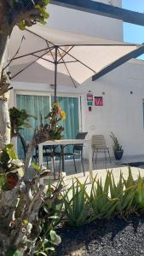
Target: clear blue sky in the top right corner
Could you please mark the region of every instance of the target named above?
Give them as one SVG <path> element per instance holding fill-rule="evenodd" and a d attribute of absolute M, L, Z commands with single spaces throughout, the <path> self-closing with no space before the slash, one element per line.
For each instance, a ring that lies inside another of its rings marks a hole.
<path fill-rule="evenodd" d="M 144 13 L 144 0 L 123 0 L 123 8 Z M 130 43 L 144 43 L 144 26 L 124 23 L 124 41 Z"/>

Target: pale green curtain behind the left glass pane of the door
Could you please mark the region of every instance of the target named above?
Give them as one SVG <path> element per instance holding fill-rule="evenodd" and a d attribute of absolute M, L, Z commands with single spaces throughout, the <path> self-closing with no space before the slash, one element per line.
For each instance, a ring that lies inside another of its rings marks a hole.
<path fill-rule="evenodd" d="M 28 114 L 33 115 L 35 118 L 29 118 L 27 121 L 31 124 L 31 128 L 24 128 L 20 131 L 21 135 L 25 138 L 26 143 L 32 140 L 35 128 L 41 123 L 46 124 L 48 121 L 44 117 L 49 113 L 49 96 L 30 96 L 30 95 L 17 95 L 16 96 L 17 108 L 26 109 Z M 23 159 L 23 149 L 21 147 L 20 139 L 18 140 L 18 154 L 20 159 Z"/>

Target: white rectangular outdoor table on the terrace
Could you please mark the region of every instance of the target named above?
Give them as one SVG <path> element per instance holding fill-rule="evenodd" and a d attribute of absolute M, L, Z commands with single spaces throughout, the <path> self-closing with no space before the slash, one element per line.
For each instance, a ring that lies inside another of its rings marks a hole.
<path fill-rule="evenodd" d="M 92 176 L 92 148 L 90 139 L 63 139 L 63 140 L 53 140 L 46 141 L 44 143 L 38 144 L 38 155 L 39 155 L 39 166 L 43 165 L 43 146 L 66 146 L 66 145 L 75 145 L 75 144 L 84 144 L 88 149 L 88 158 L 89 158 L 89 176 Z M 62 158 L 62 172 L 64 171 L 64 158 Z"/>

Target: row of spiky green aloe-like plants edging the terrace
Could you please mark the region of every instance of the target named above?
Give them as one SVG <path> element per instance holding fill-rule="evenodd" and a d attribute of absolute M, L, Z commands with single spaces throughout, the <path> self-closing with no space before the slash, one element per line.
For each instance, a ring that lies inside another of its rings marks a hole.
<path fill-rule="evenodd" d="M 120 172 L 118 183 L 115 183 L 112 172 L 107 172 L 104 185 L 101 179 L 93 178 L 90 195 L 86 182 L 78 179 L 63 195 L 66 218 L 72 226 L 80 226 L 96 218 L 119 216 L 127 218 L 129 214 L 144 212 L 144 178 L 139 174 L 135 182 L 129 167 L 129 175 L 123 177 Z"/>

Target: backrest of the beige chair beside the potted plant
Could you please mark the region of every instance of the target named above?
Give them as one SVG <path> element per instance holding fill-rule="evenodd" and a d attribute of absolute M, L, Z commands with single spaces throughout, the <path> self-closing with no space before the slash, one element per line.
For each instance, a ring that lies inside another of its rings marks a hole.
<path fill-rule="evenodd" d="M 106 149 L 106 141 L 103 135 L 93 135 L 91 139 L 91 146 L 93 149 Z"/>

